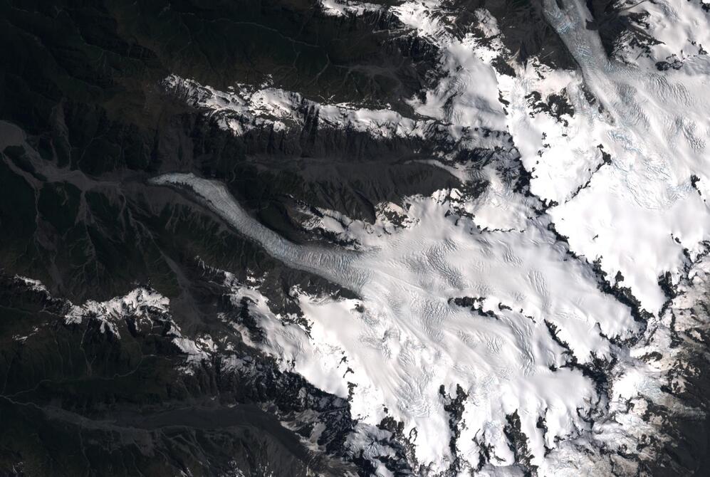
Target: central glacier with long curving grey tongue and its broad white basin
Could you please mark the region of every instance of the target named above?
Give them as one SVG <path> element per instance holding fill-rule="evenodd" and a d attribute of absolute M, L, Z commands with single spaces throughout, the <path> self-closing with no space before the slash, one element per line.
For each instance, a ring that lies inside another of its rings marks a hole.
<path fill-rule="evenodd" d="M 548 426 L 533 443 L 542 456 L 555 439 L 588 429 L 584 418 L 598 399 L 579 369 L 560 369 L 566 353 L 581 363 L 610 359 L 607 337 L 623 340 L 638 331 L 628 308 L 599 290 L 590 266 L 571 260 L 544 221 L 521 232 L 481 231 L 470 219 L 447 216 L 446 202 L 422 197 L 408 210 L 416 226 L 362 236 L 365 251 L 338 253 L 286 242 L 247 219 L 214 182 L 189 174 L 156 182 L 189 187 L 275 258 L 362 297 L 304 296 L 310 338 L 271 325 L 277 334 L 271 340 L 280 343 L 271 351 L 283 350 L 283 360 L 294 360 L 296 371 L 325 391 L 348 397 L 348 383 L 355 384 L 353 411 L 365 424 L 389 414 L 407 423 L 405 434 L 417 429 L 417 459 L 433 470 L 444 470 L 452 458 L 442 385 L 448 394 L 457 385 L 468 394 L 462 441 L 478 435 L 512 463 L 502 428 L 517 410 L 526 435 L 538 434 L 538 419 Z M 476 447 L 466 449 L 471 463 Z"/>

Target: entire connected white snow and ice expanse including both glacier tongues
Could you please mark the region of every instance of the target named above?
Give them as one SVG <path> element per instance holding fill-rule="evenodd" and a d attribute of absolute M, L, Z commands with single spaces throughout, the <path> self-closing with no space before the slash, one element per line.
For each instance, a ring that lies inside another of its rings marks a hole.
<path fill-rule="evenodd" d="M 583 1 L 559 4 L 545 0 L 545 18 L 576 71 L 531 61 L 513 65 L 515 76 L 497 73 L 491 48 L 501 43 L 451 36 L 437 2 L 406 2 L 392 12 L 440 47 L 446 73 L 424 100 L 412 99 L 418 117 L 308 103 L 320 110 L 320 127 L 376 137 L 427 137 L 436 124 L 474 147 L 486 144 L 466 136 L 469 128 L 504 131 L 531 173 L 531 196 L 514 192 L 495 168 L 443 164 L 464 182 L 484 174 L 489 189 L 378 205 L 404 217 L 400 225 L 385 214 L 364 224 L 333 211 L 304 224 L 356 243 L 345 249 L 286 241 L 218 182 L 177 173 L 153 181 L 184 188 L 287 266 L 355 292 L 357 299 L 335 300 L 297 290 L 305 330 L 281 323 L 258 287 L 229 283 L 234 300 L 249 295 L 258 304 L 268 340 L 254 346 L 350 400 L 359 424 L 348 445 L 382 475 L 377 457 L 390 449 L 377 425 L 387 416 L 404 423 L 422 474 L 536 468 L 562 476 L 635 473 L 657 449 L 649 436 L 664 439 L 644 414 L 649 403 L 696 412 L 662 385 L 685 359 L 669 345 L 672 326 L 684 326 L 672 317 L 706 319 L 688 310 L 704 299 L 709 269 L 710 60 L 698 53 L 678 70 L 654 65 L 687 53 L 685 40 L 710 45 L 709 16 L 697 2 L 637 4 L 633 11 L 649 9 L 652 34 L 663 43 L 631 62 L 631 47 L 607 57 L 597 31 L 585 28 L 592 18 Z M 337 15 L 374 8 L 323 5 Z M 490 14 L 477 16 L 495 37 Z M 219 92 L 176 76 L 166 82 L 235 134 L 298 124 L 307 102 L 274 88 Z M 563 96 L 573 112 L 534 110 L 531 93 Z M 649 357 L 654 352 L 661 358 Z M 453 401 L 461 403 L 458 414 Z M 523 436 L 523 447 L 513 434 Z M 490 463 L 479 468 L 483 454 Z"/>

